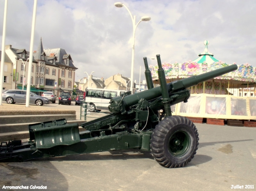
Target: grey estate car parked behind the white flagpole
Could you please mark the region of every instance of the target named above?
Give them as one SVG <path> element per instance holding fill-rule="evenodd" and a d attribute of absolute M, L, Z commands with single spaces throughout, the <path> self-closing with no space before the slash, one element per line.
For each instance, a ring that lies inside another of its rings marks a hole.
<path fill-rule="evenodd" d="M 5 90 L 2 93 L 2 101 L 6 101 L 7 103 L 26 103 L 26 90 L 18 90 L 18 89 L 9 89 Z M 42 97 L 36 95 L 34 93 L 30 93 L 29 103 L 36 104 L 36 105 L 43 105 L 49 104 L 50 101 L 46 97 Z"/>

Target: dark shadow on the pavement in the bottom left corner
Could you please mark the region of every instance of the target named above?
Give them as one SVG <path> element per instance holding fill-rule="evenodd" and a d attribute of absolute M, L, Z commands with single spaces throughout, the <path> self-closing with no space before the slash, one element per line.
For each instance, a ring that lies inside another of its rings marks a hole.
<path fill-rule="evenodd" d="M 23 185 L 28 186 L 27 190 L 68 190 L 66 178 L 49 161 L 0 163 L 0 171 L 1 188 Z M 33 189 L 33 186 L 47 186 L 47 189 Z"/>

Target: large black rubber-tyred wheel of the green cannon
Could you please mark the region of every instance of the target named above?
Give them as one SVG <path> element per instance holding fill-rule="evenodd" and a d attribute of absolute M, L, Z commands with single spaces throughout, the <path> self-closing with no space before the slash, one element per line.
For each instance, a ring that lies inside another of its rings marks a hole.
<path fill-rule="evenodd" d="M 150 151 L 163 167 L 183 167 L 194 158 L 198 140 L 193 122 L 186 117 L 170 116 L 156 125 L 150 139 Z"/>

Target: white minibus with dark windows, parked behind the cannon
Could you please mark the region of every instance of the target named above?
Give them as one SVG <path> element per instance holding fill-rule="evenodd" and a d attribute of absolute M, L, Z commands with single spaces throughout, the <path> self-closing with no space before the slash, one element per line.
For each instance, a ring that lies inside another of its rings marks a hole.
<path fill-rule="evenodd" d="M 87 88 L 85 102 L 89 105 L 88 110 L 91 112 L 108 110 L 110 99 L 123 96 L 125 92 L 126 90 Z"/>

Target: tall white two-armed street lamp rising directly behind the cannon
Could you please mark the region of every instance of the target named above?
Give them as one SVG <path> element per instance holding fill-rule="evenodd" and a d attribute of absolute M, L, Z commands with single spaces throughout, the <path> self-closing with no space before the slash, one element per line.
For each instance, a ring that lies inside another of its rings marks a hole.
<path fill-rule="evenodd" d="M 116 3 L 114 3 L 114 5 L 115 5 L 116 7 L 119 7 L 119 8 L 125 7 L 125 8 L 128 10 L 128 12 L 129 12 L 129 14 L 130 14 L 130 16 L 131 16 L 131 18 L 132 18 L 132 22 L 133 22 L 132 68 L 131 68 L 131 83 L 130 83 L 130 89 L 131 89 L 132 94 L 133 94 L 133 69 L 134 69 L 135 31 L 136 31 L 136 28 L 137 28 L 138 24 L 139 24 L 141 21 L 150 21 L 151 18 L 150 18 L 149 16 L 143 16 L 143 17 L 141 17 L 141 20 L 140 20 L 137 24 L 135 24 L 135 18 L 136 18 L 135 15 L 132 16 L 130 10 L 129 10 L 123 3 L 121 3 L 121 2 L 116 2 Z"/>

